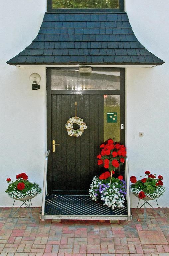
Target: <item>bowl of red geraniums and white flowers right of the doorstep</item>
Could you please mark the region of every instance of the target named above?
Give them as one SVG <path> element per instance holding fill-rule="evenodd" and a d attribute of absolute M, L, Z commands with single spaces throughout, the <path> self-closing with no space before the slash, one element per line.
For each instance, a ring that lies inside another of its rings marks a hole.
<path fill-rule="evenodd" d="M 165 192 L 162 180 L 162 175 L 158 175 L 156 178 L 156 174 L 151 174 L 150 171 L 145 171 L 145 178 L 141 180 L 131 176 L 131 192 L 139 199 L 146 201 L 156 199 Z"/>

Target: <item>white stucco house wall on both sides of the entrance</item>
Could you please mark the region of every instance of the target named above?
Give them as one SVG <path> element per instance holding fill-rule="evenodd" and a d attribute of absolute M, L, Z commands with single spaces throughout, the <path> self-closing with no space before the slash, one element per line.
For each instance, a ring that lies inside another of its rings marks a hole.
<path fill-rule="evenodd" d="M 10 6 L 10 7 L 9 7 Z M 154 68 L 126 69 L 126 146 L 130 175 L 145 170 L 164 175 L 166 193 L 159 205 L 169 207 L 168 171 L 168 1 L 127 0 L 126 11 L 133 31 L 148 50 L 165 64 Z M 6 11 L 7 7 L 9 8 Z M 6 64 L 36 37 L 46 10 L 46 0 L 1 1 L 0 16 L 0 206 L 11 206 L 4 192 L 6 178 L 26 172 L 43 184 L 46 151 L 46 71 L 44 67 L 18 68 Z M 41 89 L 31 89 L 29 76 L 41 76 Z M 144 137 L 139 137 L 139 131 Z M 41 205 L 41 196 L 34 206 Z M 135 198 L 131 205 L 135 207 Z"/>

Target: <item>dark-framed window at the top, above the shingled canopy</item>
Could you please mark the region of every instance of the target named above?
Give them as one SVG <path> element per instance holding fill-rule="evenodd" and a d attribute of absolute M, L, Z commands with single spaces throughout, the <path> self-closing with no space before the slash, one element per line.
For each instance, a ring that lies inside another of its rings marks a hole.
<path fill-rule="evenodd" d="M 99 12 L 123 12 L 124 0 L 47 0 L 48 12 L 73 12 L 98 10 Z"/>

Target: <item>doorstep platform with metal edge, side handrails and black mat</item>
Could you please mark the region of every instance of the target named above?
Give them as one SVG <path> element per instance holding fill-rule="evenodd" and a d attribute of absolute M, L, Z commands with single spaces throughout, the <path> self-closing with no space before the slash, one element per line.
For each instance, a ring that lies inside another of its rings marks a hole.
<path fill-rule="evenodd" d="M 82 220 L 130 220 L 128 158 L 125 162 L 127 197 L 124 208 L 112 209 L 101 201 L 91 200 L 89 195 L 46 195 L 48 150 L 45 157 L 42 210 L 40 219 L 82 219 Z M 127 170 L 127 171 L 126 171 Z"/>

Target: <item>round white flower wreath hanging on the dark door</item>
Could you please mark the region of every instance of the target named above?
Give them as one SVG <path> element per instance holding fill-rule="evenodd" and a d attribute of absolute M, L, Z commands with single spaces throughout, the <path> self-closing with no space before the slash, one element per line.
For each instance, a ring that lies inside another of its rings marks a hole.
<path fill-rule="evenodd" d="M 73 124 L 78 124 L 79 129 L 77 129 L 77 130 L 73 129 Z M 83 121 L 82 118 L 74 116 L 74 117 L 69 118 L 65 127 L 68 131 L 69 136 L 79 137 L 82 135 L 84 130 L 87 128 L 87 125 L 85 124 L 85 122 Z"/>

